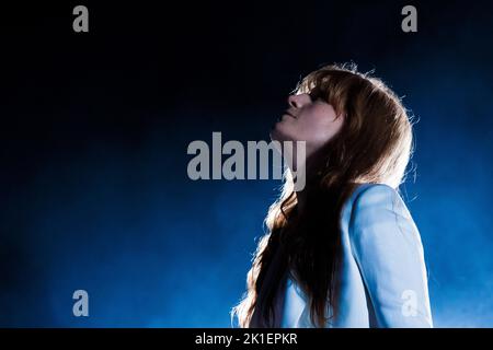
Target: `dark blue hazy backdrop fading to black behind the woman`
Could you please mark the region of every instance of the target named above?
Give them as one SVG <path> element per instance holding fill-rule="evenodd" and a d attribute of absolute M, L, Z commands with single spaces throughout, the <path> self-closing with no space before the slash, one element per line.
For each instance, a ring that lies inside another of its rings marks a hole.
<path fill-rule="evenodd" d="M 0 326 L 229 327 L 276 180 L 192 182 L 193 140 L 268 140 L 298 79 L 376 69 L 412 109 L 437 327 L 493 326 L 493 8 L 404 1 L 2 8 Z M 2 5 L 3 7 L 3 5 Z M 90 295 L 73 317 L 72 293 Z"/>

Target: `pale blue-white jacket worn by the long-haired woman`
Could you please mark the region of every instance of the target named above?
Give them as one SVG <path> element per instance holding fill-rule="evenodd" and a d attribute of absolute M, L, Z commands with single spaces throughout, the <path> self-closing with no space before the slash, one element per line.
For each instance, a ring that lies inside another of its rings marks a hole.
<path fill-rule="evenodd" d="M 359 185 L 343 207 L 341 234 L 339 315 L 325 327 L 433 327 L 423 246 L 400 195 Z M 279 291 L 276 326 L 314 327 L 298 285 L 287 278 Z"/>

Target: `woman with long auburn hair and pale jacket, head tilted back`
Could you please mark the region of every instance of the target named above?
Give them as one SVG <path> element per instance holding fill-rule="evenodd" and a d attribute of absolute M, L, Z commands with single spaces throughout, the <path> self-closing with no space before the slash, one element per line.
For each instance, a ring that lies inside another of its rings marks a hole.
<path fill-rule="evenodd" d="M 306 141 L 271 206 L 241 327 L 433 327 L 420 233 L 398 188 L 412 152 L 399 97 L 354 66 L 308 74 L 271 131 Z"/>

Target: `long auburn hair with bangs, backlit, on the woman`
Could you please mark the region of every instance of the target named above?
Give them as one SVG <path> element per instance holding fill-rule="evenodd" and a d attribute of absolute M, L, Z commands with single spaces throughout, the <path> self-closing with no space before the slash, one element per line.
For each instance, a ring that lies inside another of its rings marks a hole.
<path fill-rule="evenodd" d="M 336 316 L 343 205 L 357 184 L 398 189 L 412 153 L 412 120 L 401 100 L 380 79 L 358 72 L 356 65 L 322 67 L 305 77 L 295 93 L 323 98 L 344 122 L 317 153 L 302 212 L 285 168 L 280 195 L 265 218 L 267 233 L 246 275 L 246 292 L 231 310 L 240 327 L 250 327 L 254 313 L 265 326 L 274 326 L 274 300 L 286 272 L 308 296 L 312 325 L 325 327 Z M 272 264 L 275 254 L 282 264 Z M 277 270 L 266 279 L 270 268 Z"/>

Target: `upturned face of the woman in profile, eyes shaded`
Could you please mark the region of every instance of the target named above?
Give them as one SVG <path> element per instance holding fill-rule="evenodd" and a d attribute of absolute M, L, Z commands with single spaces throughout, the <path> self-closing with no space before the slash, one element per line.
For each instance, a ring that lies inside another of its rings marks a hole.
<path fill-rule="evenodd" d="M 332 105 L 309 94 L 290 95 L 289 107 L 271 130 L 271 139 L 306 141 L 307 152 L 331 140 L 341 129 L 344 118 L 337 117 Z"/>

